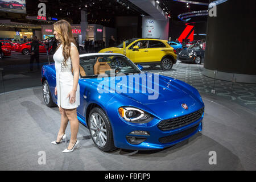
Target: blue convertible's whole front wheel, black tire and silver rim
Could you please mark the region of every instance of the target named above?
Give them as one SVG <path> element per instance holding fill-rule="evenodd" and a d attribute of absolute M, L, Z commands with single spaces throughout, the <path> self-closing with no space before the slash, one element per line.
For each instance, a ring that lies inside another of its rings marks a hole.
<path fill-rule="evenodd" d="M 101 126 L 102 128 L 100 128 Z M 92 136 L 93 143 L 96 145 L 97 148 L 104 152 L 115 150 L 113 131 L 110 125 L 109 118 L 106 115 L 105 111 L 102 110 L 100 107 L 94 107 L 90 111 L 88 128 L 90 130 L 90 135 Z"/>

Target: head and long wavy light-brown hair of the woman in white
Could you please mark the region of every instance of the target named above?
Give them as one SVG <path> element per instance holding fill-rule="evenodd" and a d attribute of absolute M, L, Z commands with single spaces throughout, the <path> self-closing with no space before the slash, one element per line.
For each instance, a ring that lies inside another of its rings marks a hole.
<path fill-rule="evenodd" d="M 63 47 L 63 57 L 64 65 L 67 65 L 67 60 L 70 56 L 71 43 L 76 45 L 75 39 L 72 34 L 71 25 L 64 19 L 61 19 L 53 24 L 54 30 L 59 34 L 60 44 L 57 49 L 62 45 Z"/>

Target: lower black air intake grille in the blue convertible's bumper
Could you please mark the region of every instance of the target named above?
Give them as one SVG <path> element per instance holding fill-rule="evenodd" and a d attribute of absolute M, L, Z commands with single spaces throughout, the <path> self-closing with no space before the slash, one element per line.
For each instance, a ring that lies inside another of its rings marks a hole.
<path fill-rule="evenodd" d="M 177 134 L 174 134 L 174 135 L 159 138 L 159 142 L 161 142 L 161 143 L 171 143 L 171 142 L 174 142 L 175 140 L 187 137 L 188 135 L 194 133 L 197 130 L 198 126 L 199 125 L 196 125 L 194 127 L 191 127 L 188 130 L 181 131 L 180 133 L 177 133 Z"/>

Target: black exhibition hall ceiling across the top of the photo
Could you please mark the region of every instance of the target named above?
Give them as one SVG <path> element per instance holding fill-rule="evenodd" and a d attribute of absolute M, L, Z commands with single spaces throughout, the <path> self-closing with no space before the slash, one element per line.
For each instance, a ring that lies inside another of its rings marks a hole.
<path fill-rule="evenodd" d="M 192 0 L 190 0 L 192 1 Z M 196 0 L 209 3 L 208 0 Z M 58 19 L 67 19 L 72 24 L 80 24 L 82 9 L 88 13 L 88 23 L 102 24 L 103 26 L 115 27 L 115 16 L 140 16 L 147 15 L 139 7 L 128 0 L 26 0 L 27 15 L 38 15 L 38 4 L 46 3 L 47 16 Z M 159 0 L 162 9 L 170 11 L 171 20 L 179 20 L 177 15 L 188 11 L 207 10 L 208 6 L 177 2 L 173 0 Z M 129 8 L 128 8 L 129 7 Z M 0 13 L 1 19 L 12 19 L 18 22 L 44 24 L 36 20 L 27 20 L 24 14 Z M 197 20 L 207 20 L 207 17 L 197 17 Z M 194 19 L 191 19 L 194 20 Z"/>

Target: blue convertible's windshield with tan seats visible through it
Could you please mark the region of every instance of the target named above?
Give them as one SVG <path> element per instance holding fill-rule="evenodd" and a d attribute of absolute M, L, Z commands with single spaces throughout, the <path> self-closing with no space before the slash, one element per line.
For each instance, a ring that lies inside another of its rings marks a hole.
<path fill-rule="evenodd" d="M 118 73 L 141 73 L 141 70 L 127 57 L 122 55 L 88 55 L 80 57 L 82 78 L 115 76 Z"/>

